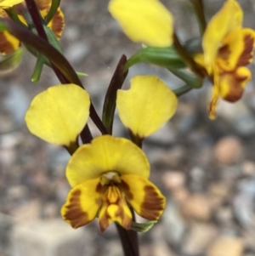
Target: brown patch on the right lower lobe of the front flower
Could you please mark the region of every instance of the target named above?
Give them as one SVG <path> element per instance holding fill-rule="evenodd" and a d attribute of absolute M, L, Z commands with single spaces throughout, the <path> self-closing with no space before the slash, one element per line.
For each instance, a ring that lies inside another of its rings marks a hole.
<path fill-rule="evenodd" d="M 141 213 L 139 213 L 139 215 L 145 219 L 159 219 L 161 212 L 164 209 L 165 198 L 159 196 L 155 189 L 150 185 L 144 187 L 144 192 L 144 202 L 141 205 Z"/>

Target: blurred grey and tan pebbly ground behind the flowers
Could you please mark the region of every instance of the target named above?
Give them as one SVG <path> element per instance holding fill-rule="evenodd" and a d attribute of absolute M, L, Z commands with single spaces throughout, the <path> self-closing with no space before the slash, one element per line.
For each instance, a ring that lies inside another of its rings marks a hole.
<path fill-rule="evenodd" d="M 190 1 L 162 2 L 183 42 L 199 36 Z M 254 0 L 238 2 L 244 26 L 255 29 Z M 209 20 L 224 1 L 204 3 Z M 60 43 L 71 65 L 88 73 L 82 82 L 99 115 L 118 60 L 140 48 L 122 33 L 107 4 L 62 0 L 60 5 L 65 14 Z M 70 190 L 65 179 L 70 156 L 30 134 L 24 122 L 32 98 L 59 81 L 45 67 L 41 81 L 31 83 L 34 65 L 25 54 L 18 69 L 0 77 L 0 256 L 121 256 L 115 225 L 100 234 L 95 219 L 72 230 L 60 217 Z M 249 67 L 254 77 L 254 62 Z M 171 88 L 182 85 L 168 71 L 136 65 L 124 88 L 137 74 L 156 74 Z M 167 196 L 167 208 L 152 230 L 139 235 L 141 256 L 255 256 L 254 78 L 242 100 L 219 103 L 213 122 L 207 117 L 211 89 L 205 82 L 180 97 L 172 120 L 144 141 L 150 179 Z M 93 123 L 90 128 L 99 135 Z M 117 115 L 114 135 L 127 136 Z"/>

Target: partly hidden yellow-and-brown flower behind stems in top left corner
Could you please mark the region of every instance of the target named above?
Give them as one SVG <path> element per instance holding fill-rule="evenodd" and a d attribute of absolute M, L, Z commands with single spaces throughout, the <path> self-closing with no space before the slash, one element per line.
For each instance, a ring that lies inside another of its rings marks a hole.
<path fill-rule="evenodd" d="M 4 3 L 8 1 L 3 1 Z M 10 1 L 11 3 L 18 2 L 18 1 Z M 24 1 L 19 1 L 19 3 Z M 37 3 L 37 7 L 40 10 L 40 13 L 42 15 L 42 18 L 45 18 L 45 16 L 48 14 L 48 11 L 51 6 L 52 0 L 35 0 Z M 21 3 L 23 4 L 23 3 Z M 0 3 L 0 8 L 2 8 Z M 20 20 L 24 23 L 24 25 L 27 26 L 26 20 L 23 17 L 22 12 L 20 11 L 19 5 L 14 6 Z M 0 17 L 1 18 L 8 18 L 8 14 L 4 11 L 4 9 L 0 9 Z M 62 31 L 65 26 L 64 21 L 64 14 L 60 9 L 57 10 L 56 14 L 54 15 L 54 18 L 48 23 L 48 27 L 54 32 L 55 36 L 57 38 L 61 37 Z M 2 31 L 0 32 L 0 52 L 2 54 L 11 54 L 15 50 L 20 48 L 20 41 L 8 33 L 8 31 Z"/>

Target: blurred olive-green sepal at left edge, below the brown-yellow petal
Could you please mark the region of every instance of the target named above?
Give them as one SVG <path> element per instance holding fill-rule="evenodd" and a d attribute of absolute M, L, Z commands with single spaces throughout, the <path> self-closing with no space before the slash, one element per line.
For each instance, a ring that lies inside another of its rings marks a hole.
<path fill-rule="evenodd" d="M 20 65 L 23 54 L 23 48 L 19 48 L 14 53 L 1 57 L 0 71 L 14 71 Z"/>

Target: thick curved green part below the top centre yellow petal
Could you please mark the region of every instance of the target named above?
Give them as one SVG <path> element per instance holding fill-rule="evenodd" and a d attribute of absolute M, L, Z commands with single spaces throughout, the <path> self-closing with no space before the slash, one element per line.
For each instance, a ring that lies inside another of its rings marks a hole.
<path fill-rule="evenodd" d="M 185 63 L 173 46 L 167 48 L 145 47 L 134 54 L 125 64 L 125 70 L 137 63 L 148 63 L 166 68 L 184 68 Z"/>

